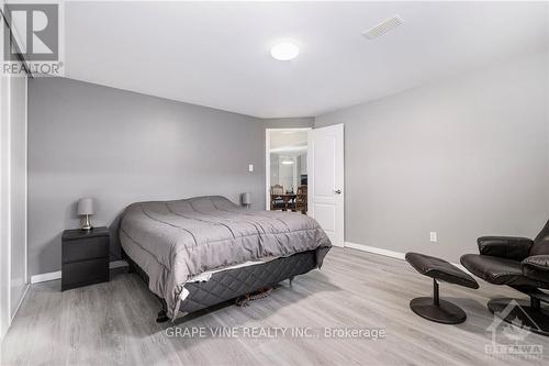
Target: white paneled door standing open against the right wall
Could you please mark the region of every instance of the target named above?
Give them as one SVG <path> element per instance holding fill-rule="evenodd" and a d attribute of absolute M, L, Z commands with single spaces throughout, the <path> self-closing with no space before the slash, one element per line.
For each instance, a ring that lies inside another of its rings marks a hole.
<path fill-rule="evenodd" d="M 344 125 L 309 134 L 309 214 L 333 245 L 344 246 Z"/>

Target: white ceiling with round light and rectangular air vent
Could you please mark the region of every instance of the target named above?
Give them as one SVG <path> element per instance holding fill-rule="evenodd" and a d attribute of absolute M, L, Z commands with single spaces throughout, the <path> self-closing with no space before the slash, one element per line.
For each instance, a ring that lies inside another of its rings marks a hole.
<path fill-rule="evenodd" d="M 67 2 L 66 77 L 310 117 L 546 49 L 546 2 Z M 373 41 L 361 32 L 400 14 Z M 291 62 L 277 40 L 300 45 Z"/>

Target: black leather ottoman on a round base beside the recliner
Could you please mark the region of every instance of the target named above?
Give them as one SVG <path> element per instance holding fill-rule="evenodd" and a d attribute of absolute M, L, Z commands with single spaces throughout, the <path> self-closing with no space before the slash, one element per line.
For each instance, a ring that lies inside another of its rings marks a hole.
<path fill-rule="evenodd" d="M 406 253 L 406 260 L 422 275 L 433 278 L 433 298 L 416 298 L 410 301 L 410 308 L 419 317 L 444 324 L 459 324 L 467 314 L 453 303 L 440 300 L 437 280 L 469 288 L 479 288 L 479 284 L 449 262 L 419 253 Z"/>

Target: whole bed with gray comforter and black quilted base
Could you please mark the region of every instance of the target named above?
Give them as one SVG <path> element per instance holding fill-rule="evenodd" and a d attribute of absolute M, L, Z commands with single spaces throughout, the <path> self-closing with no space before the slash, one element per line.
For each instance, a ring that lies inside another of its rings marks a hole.
<path fill-rule="evenodd" d="M 123 253 L 176 319 L 320 268 L 332 244 L 296 212 L 253 211 L 220 196 L 130 204 Z"/>

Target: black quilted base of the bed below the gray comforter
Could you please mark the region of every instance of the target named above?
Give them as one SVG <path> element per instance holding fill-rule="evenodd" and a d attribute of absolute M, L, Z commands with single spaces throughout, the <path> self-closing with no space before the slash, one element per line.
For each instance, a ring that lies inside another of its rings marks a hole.
<path fill-rule="evenodd" d="M 130 273 L 136 273 L 148 288 L 147 274 L 124 251 L 122 255 L 130 265 Z M 189 295 L 181 302 L 179 311 L 195 312 L 273 286 L 285 279 L 291 281 L 294 276 L 303 275 L 317 266 L 316 251 L 307 251 L 254 266 L 222 270 L 213 274 L 208 281 L 187 284 L 184 287 Z M 166 301 L 156 293 L 154 295 L 161 304 L 156 321 L 166 322 L 169 320 Z"/>

